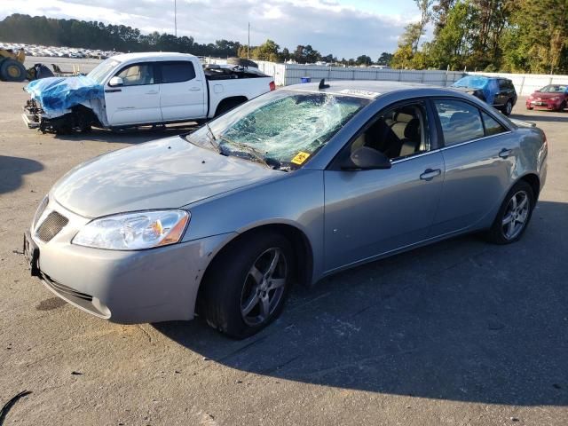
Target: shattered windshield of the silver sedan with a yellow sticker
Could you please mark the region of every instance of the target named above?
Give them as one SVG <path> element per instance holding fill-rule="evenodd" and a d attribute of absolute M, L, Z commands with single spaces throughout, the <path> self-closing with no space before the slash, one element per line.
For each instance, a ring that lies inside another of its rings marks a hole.
<path fill-rule="evenodd" d="M 369 99 L 331 93 L 273 91 L 189 135 L 221 154 L 297 169 L 332 138 Z"/>

